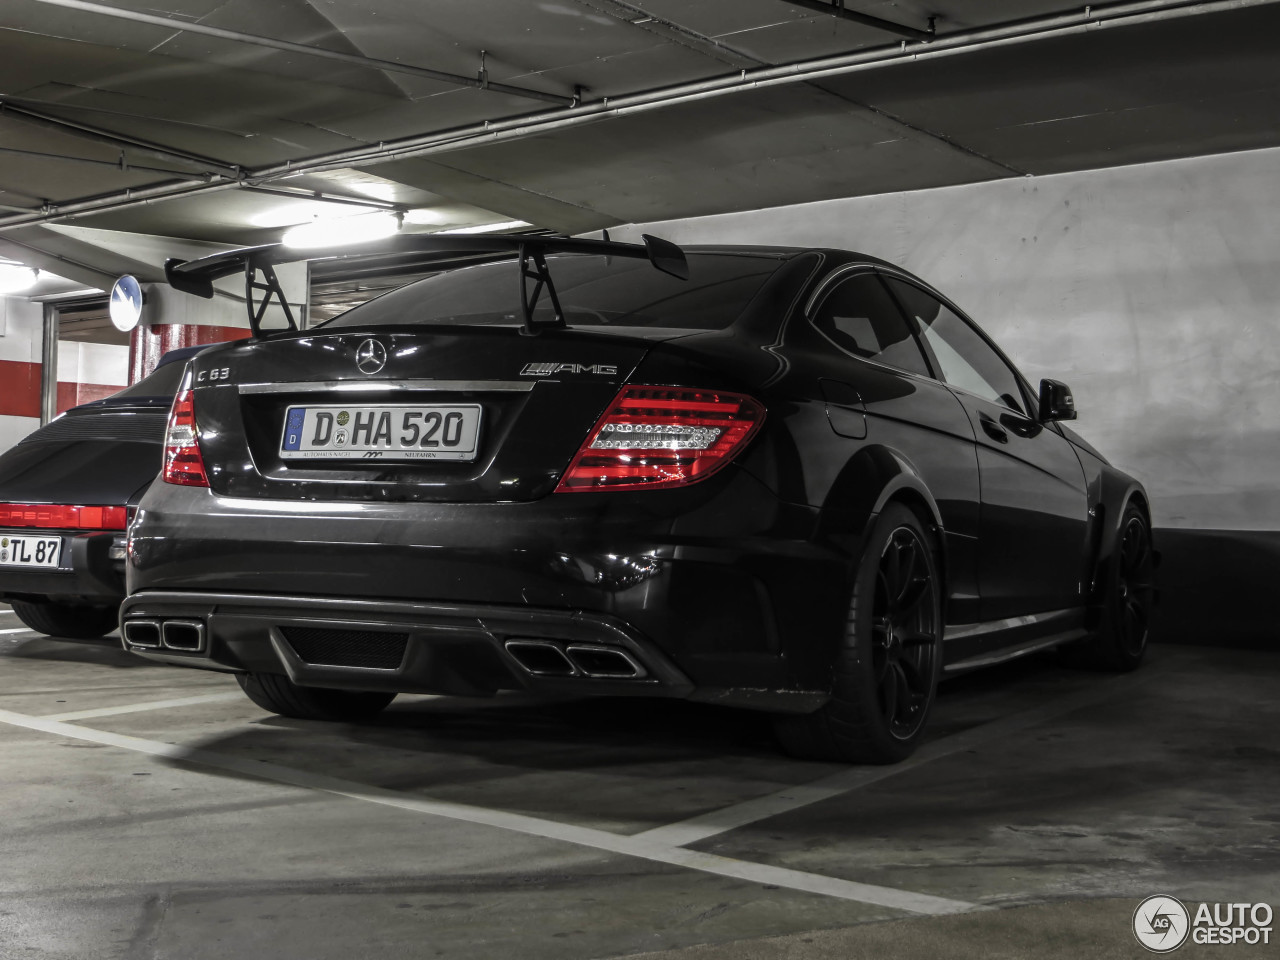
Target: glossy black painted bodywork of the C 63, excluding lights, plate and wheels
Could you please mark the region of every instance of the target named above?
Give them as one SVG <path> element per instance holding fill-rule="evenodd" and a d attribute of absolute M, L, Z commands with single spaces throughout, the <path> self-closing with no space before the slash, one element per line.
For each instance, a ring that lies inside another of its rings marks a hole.
<path fill-rule="evenodd" d="M 915 278 L 845 251 L 768 252 L 785 262 L 724 330 L 570 328 L 531 338 L 513 328 L 348 326 L 201 356 L 192 369 L 212 489 L 151 488 L 131 534 L 122 616 L 204 620 L 210 646 L 138 652 L 188 666 L 288 671 L 321 686 L 567 686 L 812 709 L 829 690 L 863 538 L 890 499 L 940 532 L 948 666 L 1082 636 L 1097 571 L 1124 503 L 1143 500 L 1140 486 L 1057 424 L 1001 424 L 1009 411 L 841 355 L 806 320 L 814 293 L 842 269 L 882 270 L 931 289 Z M 388 347 L 378 378 L 355 366 L 369 337 Z M 520 381 L 521 369 L 539 361 L 617 374 L 540 378 L 518 394 L 484 389 L 486 380 Z M 198 380 L 215 367 L 229 374 L 216 385 Z M 474 465 L 279 461 L 288 402 L 396 380 L 412 393 L 412 381 L 430 379 L 457 385 L 433 396 L 493 410 Z M 705 481 L 553 494 L 623 383 L 744 392 L 768 413 L 750 447 Z M 256 392 L 278 385 L 283 393 Z M 1048 444 L 1010 456 L 983 417 L 1020 443 Z M 979 465 L 991 474 L 983 484 Z M 413 613 L 415 604 L 430 611 Z M 502 653 L 504 639 L 521 635 L 509 632 L 521 617 L 550 625 L 552 635 L 582 618 L 607 623 L 671 669 L 644 682 L 527 676 Z M 317 680 L 291 663 L 276 631 L 287 621 L 407 623 L 419 632 L 399 672 L 326 667 Z M 506 626 L 484 626 L 497 622 Z M 426 650 L 444 643 L 451 623 L 456 639 L 470 631 L 471 640 L 458 639 L 466 653 L 445 667 Z"/>

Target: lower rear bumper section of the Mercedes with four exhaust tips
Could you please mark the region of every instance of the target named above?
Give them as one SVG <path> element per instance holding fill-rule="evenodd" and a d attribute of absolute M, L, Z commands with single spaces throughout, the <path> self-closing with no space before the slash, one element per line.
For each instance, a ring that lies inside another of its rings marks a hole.
<path fill-rule="evenodd" d="M 484 696 L 689 696 L 694 685 L 612 617 L 479 604 L 143 591 L 125 650 L 205 669 L 283 673 L 349 690 Z"/>

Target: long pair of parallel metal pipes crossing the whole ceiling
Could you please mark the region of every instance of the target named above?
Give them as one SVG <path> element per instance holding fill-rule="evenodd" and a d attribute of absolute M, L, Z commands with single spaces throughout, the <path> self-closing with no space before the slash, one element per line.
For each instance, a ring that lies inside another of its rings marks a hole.
<path fill-rule="evenodd" d="M 40 0 L 40 3 L 49 1 L 51 0 Z M 70 0 L 58 1 L 70 3 Z M 605 97 L 599 101 L 584 104 L 572 111 L 553 110 L 541 114 L 527 114 L 508 120 L 485 120 L 452 131 L 389 141 L 376 147 L 355 147 L 308 159 L 291 160 L 273 166 L 248 170 L 246 172 L 246 178 L 262 182 L 320 173 L 343 166 L 360 166 L 389 160 L 428 156 L 470 146 L 520 140 L 557 129 L 572 128 L 607 116 L 627 116 L 673 104 L 686 104 L 764 87 L 846 76 L 897 63 L 933 60 L 977 50 L 1084 33 L 1093 29 L 1225 13 L 1253 6 L 1267 6 L 1275 3 L 1280 3 L 1280 0 L 1174 0 L 1172 3 L 1170 0 L 1139 0 L 1138 3 L 1110 4 L 1105 8 L 1087 6 L 1069 14 L 1053 14 L 997 24 L 995 27 L 957 31 L 936 37 L 928 45 L 913 45 L 902 41 L 901 45 L 893 45 L 892 47 L 877 47 L 856 54 L 745 69 L 728 76 L 662 87 L 644 93 Z M 31 223 L 61 220 L 79 214 L 125 210 L 142 204 L 196 196 L 236 186 L 236 180 L 220 180 L 218 178 L 211 183 L 202 184 L 168 182 L 97 197 L 83 197 L 64 204 L 50 204 L 49 212 L 0 218 L 0 233 Z"/>

